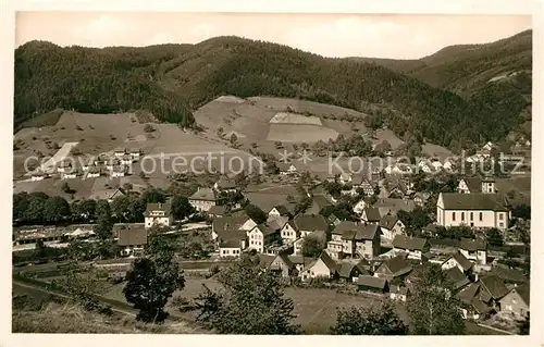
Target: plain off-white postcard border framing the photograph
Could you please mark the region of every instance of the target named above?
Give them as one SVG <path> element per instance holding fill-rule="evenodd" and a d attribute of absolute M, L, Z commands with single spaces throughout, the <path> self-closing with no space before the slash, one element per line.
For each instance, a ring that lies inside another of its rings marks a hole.
<path fill-rule="evenodd" d="M 12 109 L 13 109 L 13 49 L 14 49 L 14 12 L 15 11 L 169 11 L 169 12 L 297 12 L 297 13 L 441 13 L 441 14 L 533 14 L 533 181 L 532 181 L 532 285 L 531 285 L 531 336 L 452 336 L 452 337 L 417 337 L 409 336 L 401 340 L 398 337 L 376 337 L 376 336 L 219 336 L 219 335 L 38 335 L 38 334 L 11 334 L 11 314 L 10 310 L 3 309 L 1 315 L 1 326 L 3 329 L 0 346 L 109 346 L 109 345 L 239 345 L 240 343 L 277 345 L 296 344 L 297 346 L 316 346 L 317 344 L 329 346 L 341 346 L 346 344 L 371 344 L 380 346 L 398 345 L 403 346 L 542 346 L 543 333 L 542 324 L 542 267 L 543 245 L 541 236 L 544 225 L 539 212 L 544 211 L 541 197 L 542 184 L 542 163 L 536 160 L 544 149 L 543 140 L 537 136 L 543 132 L 543 106 L 541 96 L 544 95 L 542 78 L 536 76 L 544 75 L 543 69 L 543 4 L 542 1 L 522 1 L 522 0 L 481 0 L 481 1 L 416 1 L 416 0 L 381 0 L 381 1 L 356 1 L 356 0 L 335 0 L 335 1 L 287 1 L 287 0 L 199 0 L 199 1 L 175 1 L 175 0 L 115 0 L 115 1 L 89 1 L 89 0 L 20 0 L 14 3 L 2 4 L 0 17 L 0 37 L 1 37 L 1 64 L 0 80 L 3 82 L 2 92 L 0 94 L 0 107 L 2 108 L 3 126 L 0 137 L 0 151 L 4 163 L 4 170 L 1 172 L 2 191 L 5 194 L 1 209 L 1 221 L 3 227 L 2 237 L 4 240 L 0 244 L 3 251 L 1 270 L 7 285 L 0 288 L 2 298 L 2 308 L 11 307 L 11 202 L 12 202 Z M 10 121 L 8 121 L 8 119 Z"/>

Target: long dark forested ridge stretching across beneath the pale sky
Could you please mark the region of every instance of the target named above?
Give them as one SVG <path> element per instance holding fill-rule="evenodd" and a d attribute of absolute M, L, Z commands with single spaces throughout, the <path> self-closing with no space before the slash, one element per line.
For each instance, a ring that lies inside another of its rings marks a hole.
<path fill-rule="evenodd" d="M 508 108 L 465 100 L 379 64 L 238 37 L 107 49 L 35 41 L 17 48 L 15 58 L 16 123 L 36 110 L 62 107 L 141 108 L 163 121 L 190 124 L 190 109 L 221 95 L 302 98 L 363 112 L 369 103 L 380 104 L 374 124 L 445 146 L 502 138 L 521 122 Z"/>

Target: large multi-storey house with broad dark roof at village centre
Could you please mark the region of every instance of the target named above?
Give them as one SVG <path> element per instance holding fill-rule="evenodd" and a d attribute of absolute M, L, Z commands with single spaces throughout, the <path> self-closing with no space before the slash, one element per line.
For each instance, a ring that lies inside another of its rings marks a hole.
<path fill-rule="evenodd" d="M 375 224 L 341 222 L 332 231 L 326 247 L 335 259 L 375 257 L 380 252 L 380 227 Z"/>

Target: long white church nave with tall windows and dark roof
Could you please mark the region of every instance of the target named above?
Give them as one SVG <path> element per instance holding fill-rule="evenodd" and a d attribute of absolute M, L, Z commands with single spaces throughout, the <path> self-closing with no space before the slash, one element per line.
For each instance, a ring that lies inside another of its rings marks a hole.
<path fill-rule="evenodd" d="M 495 194 L 441 193 L 436 202 L 438 225 L 506 230 L 510 210 Z"/>

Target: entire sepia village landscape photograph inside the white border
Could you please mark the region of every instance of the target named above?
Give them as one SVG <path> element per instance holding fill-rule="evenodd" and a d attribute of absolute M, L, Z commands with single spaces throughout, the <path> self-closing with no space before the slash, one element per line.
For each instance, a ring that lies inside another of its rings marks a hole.
<path fill-rule="evenodd" d="M 531 14 L 14 16 L 12 334 L 534 329 Z"/>

